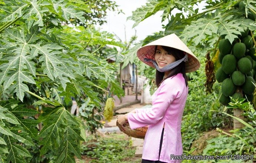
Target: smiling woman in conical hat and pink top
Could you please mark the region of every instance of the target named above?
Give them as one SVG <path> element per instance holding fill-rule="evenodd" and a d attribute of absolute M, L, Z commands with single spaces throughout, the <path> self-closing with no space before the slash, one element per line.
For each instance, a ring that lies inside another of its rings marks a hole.
<path fill-rule="evenodd" d="M 158 89 L 152 95 L 152 108 L 135 109 L 118 116 L 117 122 L 124 125 L 128 121 L 131 129 L 149 125 L 142 163 L 181 162 L 171 156 L 183 154 L 181 118 L 188 94 L 186 73 L 197 70 L 200 62 L 175 34 L 142 46 L 137 56 L 157 69 Z"/>

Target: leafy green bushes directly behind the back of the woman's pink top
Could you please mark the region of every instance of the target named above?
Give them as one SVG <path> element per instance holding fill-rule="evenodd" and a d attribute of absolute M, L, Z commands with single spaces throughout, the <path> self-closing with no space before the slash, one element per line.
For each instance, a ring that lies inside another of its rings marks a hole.
<path fill-rule="evenodd" d="M 192 142 L 200 137 L 204 131 L 216 127 L 226 126 L 229 118 L 220 113 L 209 113 L 209 110 L 222 110 L 216 94 L 220 92 L 220 84 L 214 84 L 214 93 L 206 94 L 204 83 L 206 76 L 204 74 L 204 60 L 201 61 L 201 67 L 188 81 L 188 97 L 183 112 L 181 124 L 181 134 L 183 149 L 189 151 Z"/>

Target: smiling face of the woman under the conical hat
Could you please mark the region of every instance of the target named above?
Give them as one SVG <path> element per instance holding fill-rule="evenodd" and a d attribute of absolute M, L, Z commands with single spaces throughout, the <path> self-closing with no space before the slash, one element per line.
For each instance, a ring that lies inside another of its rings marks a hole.
<path fill-rule="evenodd" d="M 172 54 L 165 51 L 161 46 L 157 46 L 155 61 L 157 62 L 159 68 L 163 68 L 164 66 L 175 62 L 176 59 Z"/>

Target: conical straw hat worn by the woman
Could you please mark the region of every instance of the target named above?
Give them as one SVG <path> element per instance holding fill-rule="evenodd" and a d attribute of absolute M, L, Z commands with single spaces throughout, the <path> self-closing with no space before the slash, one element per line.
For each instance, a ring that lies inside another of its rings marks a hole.
<path fill-rule="evenodd" d="M 199 69 L 200 62 L 197 59 L 197 57 L 188 49 L 188 47 L 180 40 L 180 38 L 177 37 L 175 34 L 170 34 L 165 37 L 162 37 L 160 39 L 157 39 L 153 42 L 150 42 L 147 45 L 142 46 L 137 50 L 137 56 L 138 58 L 146 63 L 147 65 L 154 67 L 153 63 L 151 62 L 145 62 L 144 58 L 153 59 L 155 60 L 155 46 L 169 46 L 171 48 L 175 48 L 178 50 L 181 50 L 188 54 L 188 60 L 185 62 L 185 70 L 186 73 L 193 72 Z"/>

